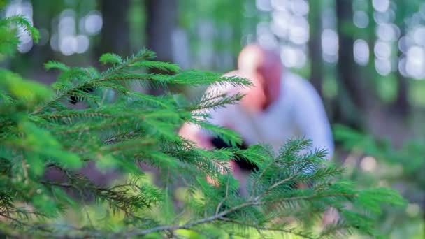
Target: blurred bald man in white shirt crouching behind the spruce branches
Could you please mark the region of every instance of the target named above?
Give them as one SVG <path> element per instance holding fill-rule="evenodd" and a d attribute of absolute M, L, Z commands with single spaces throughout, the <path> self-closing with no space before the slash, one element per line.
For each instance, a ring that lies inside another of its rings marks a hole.
<path fill-rule="evenodd" d="M 245 94 L 239 104 L 212 110 L 210 123 L 224 126 L 240 134 L 241 148 L 265 143 L 275 153 L 290 138 L 307 138 L 312 150 L 326 149 L 333 155 L 333 138 L 322 99 L 308 80 L 282 66 L 279 55 L 259 45 L 247 45 L 238 56 L 238 70 L 224 76 L 248 78 L 253 87 L 238 89 L 211 87 L 217 94 Z M 180 135 L 193 140 L 199 147 L 231 147 L 220 138 L 210 136 L 194 124 L 185 124 Z M 248 161 L 231 161 L 233 176 L 240 182 L 240 194 L 247 195 L 247 176 L 257 166 Z"/>

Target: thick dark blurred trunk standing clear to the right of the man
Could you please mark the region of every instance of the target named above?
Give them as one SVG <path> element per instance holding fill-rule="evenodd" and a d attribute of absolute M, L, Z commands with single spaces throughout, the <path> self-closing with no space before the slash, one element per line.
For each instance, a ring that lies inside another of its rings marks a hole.
<path fill-rule="evenodd" d="M 361 77 L 354 62 L 354 39 L 350 34 L 352 22 L 352 1 L 337 0 L 336 16 L 338 21 L 338 96 L 334 102 L 334 120 L 355 128 L 361 127 L 361 113 L 366 107 L 368 91 L 362 86 Z"/>

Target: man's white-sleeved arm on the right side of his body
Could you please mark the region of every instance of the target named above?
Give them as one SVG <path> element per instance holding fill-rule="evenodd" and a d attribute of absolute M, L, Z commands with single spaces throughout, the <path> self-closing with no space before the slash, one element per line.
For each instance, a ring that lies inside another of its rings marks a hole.
<path fill-rule="evenodd" d="M 333 156 L 333 137 L 322 99 L 315 89 L 305 84 L 294 105 L 296 124 L 305 138 L 312 140 L 312 149 L 326 149 L 327 159 Z"/>

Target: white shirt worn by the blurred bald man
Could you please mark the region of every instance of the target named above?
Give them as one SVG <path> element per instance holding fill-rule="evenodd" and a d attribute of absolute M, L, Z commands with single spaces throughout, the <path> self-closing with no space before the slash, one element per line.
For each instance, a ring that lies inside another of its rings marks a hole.
<path fill-rule="evenodd" d="M 275 152 L 288 139 L 305 137 L 312 140 L 312 150 L 326 149 L 331 158 L 333 138 L 322 99 L 308 80 L 287 71 L 282 75 L 279 98 L 263 112 L 230 105 L 210 112 L 210 122 L 233 129 L 247 145 L 266 143 Z M 224 92 L 234 94 L 238 89 L 226 87 Z"/>

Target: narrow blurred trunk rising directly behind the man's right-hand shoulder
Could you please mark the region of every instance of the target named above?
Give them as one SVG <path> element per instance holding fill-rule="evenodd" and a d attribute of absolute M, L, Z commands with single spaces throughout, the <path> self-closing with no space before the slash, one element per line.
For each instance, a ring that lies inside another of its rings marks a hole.
<path fill-rule="evenodd" d="M 310 13 L 308 22 L 310 22 L 310 41 L 308 43 L 308 52 L 310 53 L 310 81 L 322 96 L 322 8 L 321 2 L 310 0 Z"/>

